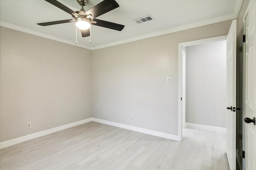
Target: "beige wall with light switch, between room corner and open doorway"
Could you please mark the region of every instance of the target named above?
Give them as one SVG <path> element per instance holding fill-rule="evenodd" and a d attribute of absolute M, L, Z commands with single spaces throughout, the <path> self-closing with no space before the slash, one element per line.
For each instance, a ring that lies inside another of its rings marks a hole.
<path fill-rule="evenodd" d="M 92 51 L 93 116 L 177 135 L 178 43 L 227 35 L 230 25 L 231 20 Z"/>

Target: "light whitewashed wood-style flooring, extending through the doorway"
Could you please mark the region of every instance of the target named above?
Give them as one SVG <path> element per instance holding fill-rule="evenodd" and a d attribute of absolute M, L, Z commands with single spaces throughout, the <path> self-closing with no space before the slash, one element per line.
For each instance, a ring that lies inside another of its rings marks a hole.
<path fill-rule="evenodd" d="M 0 150 L 1 170 L 228 170 L 225 134 L 183 129 L 183 141 L 89 122 Z"/>

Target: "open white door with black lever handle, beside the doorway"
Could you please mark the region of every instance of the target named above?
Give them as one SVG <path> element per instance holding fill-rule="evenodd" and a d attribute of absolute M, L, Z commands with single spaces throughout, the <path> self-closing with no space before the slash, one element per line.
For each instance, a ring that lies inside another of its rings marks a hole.
<path fill-rule="evenodd" d="M 232 21 L 227 37 L 227 110 L 226 152 L 230 170 L 236 169 L 236 20 Z"/>

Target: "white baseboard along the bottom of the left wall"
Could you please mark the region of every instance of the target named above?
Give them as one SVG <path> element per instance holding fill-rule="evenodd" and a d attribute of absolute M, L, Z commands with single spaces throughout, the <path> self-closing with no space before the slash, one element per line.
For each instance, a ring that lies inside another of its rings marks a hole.
<path fill-rule="evenodd" d="M 87 123 L 89 121 L 92 121 L 92 118 L 84 119 L 84 120 L 81 120 L 81 121 L 76 121 L 74 123 L 69 123 L 69 124 L 66 124 L 66 125 L 58 126 L 58 127 L 54 127 L 52 129 L 47 129 L 45 131 L 40 131 L 40 132 L 37 132 L 37 133 L 32 133 L 30 135 L 18 137 L 18 138 L 15 138 L 15 139 L 11 139 L 9 141 L 4 141 L 4 142 L 0 143 L 0 149 L 5 148 L 5 147 L 9 147 L 11 145 L 15 145 L 15 144 L 18 144 L 18 143 L 22 143 L 22 142 L 28 141 L 30 139 L 35 139 L 37 137 L 48 135 L 50 133 L 61 131 L 61 130 L 64 130 L 64 129 L 67 129 L 67 128 L 70 128 L 70 127 L 81 125 L 81 124 Z"/>

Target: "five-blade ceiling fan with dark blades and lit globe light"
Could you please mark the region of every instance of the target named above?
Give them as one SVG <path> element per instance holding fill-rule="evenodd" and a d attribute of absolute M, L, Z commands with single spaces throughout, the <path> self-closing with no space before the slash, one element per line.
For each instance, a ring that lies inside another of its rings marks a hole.
<path fill-rule="evenodd" d="M 96 19 L 96 17 L 101 16 L 102 14 L 105 14 L 111 10 L 114 10 L 115 8 L 118 8 L 119 5 L 115 0 L 103 0 L 102 2 L 92 7 L 88 11 L 84 10 L 84 6 L 88 4 L 88 0 L 76 0 L 78 4 L 81 6 L 80 11 L 76 11 L 76 12 L 64 6 L 57 0 L 45 0 L 45 1 L 67 12 L 72 16 L 73 19 L 37 23 L 38 25 L 47 26 L 47 25 L 55 25 L 60 23 L 76 22 L 76 27 L 81 29 L 82 37 L 90 36 L 89 28 L 91 25 L 97 25 L 100 27 L 114 29 L 117 31 L 122 31 L 122 29 L 124 28 L 124 25 L 120 25 L 118 23 Z"/>

